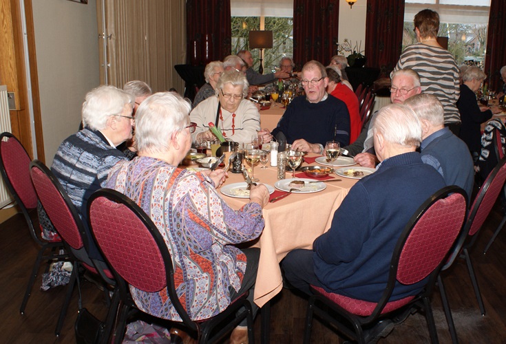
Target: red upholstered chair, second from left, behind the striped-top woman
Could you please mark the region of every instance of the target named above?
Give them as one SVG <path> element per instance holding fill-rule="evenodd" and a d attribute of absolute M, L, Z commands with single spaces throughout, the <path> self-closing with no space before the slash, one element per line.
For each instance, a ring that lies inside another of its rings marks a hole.
<path fill-rule="evenodd" d="M 63 191 L 63 187 L 50 169 L 39 160 L 34 160 L 30 163 L 30 175 L 37 196 L 45 208 L 45 211 L 48 213 L 54 228 L 56 228 L 56 231 L 63 239 L 63 244 L 65 244 L 67 252 L 70 253 L 74 264 L 70 282 L 67 286 L 65 301 L 61 308 L 58 323 L 56 324 L 56 336 L 59 336 L 61 327 L 63 326 L 63 320 L 67 314 L 68 305 L 70 304 L 70 299 L 72 298 L 72 291 L 74 290 L 76 279 L 80 279 L 84 275 L 85 270 L 100 276 L 103 281 L 105 281 L 105 283 L 103 283 L 105 287 L 114 286 L 115 281 L 109 268 L 105 266 L 105 263 L 91 259 L 88 256 L 87 248 L 89 246 L 81 217 L 79 217 L 70 197 Z M 107 302 L 109 302 L 109 292 L 107 288 L 104 288 L 104 291 Z M 79 304 L 81 305 L 81 292 L 79 295 Z M 114 305 L 112 305 L 112 307 L 114 307 Z M 115 312 L 109 312 L 109 316 L 107 316 L 106 327 L 109 326 L 107 327 L 109 329 L 112 328 L 114 314 Z"/>

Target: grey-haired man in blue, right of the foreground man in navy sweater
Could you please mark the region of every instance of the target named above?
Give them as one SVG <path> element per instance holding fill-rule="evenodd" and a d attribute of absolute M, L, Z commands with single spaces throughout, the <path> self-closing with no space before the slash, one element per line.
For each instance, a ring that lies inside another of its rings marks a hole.
<path fill-rule="evenodd" d="M 404 102 L 417 114 L 421 129 L 421 158 L 434 167 L 447 185 L 460 186 L 471 199 L 474 166 L 465 143 L 445 127 L 443 105 L 432 94 L 417 94 Z"/>

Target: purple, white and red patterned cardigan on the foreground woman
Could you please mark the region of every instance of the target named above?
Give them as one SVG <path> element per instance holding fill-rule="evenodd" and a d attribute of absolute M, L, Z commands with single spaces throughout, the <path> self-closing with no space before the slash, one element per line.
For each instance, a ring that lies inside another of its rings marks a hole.
<path fill-rule="evenodd" d="M 230 304 L 229 288 L 240 290 L 246 270 L 246 256 L 233 244 L 262 233 L 260 205 L 252 202 L 234 211 L 207 176 L 148 157 L 114 166 L 107 187 L 134 200 L 164 237 L 176 292 L 191 319 L 222 312 Z M 143 312 L 181 320 L 165 288 L 144 292 L 130 286 L 130 292 Z"/>

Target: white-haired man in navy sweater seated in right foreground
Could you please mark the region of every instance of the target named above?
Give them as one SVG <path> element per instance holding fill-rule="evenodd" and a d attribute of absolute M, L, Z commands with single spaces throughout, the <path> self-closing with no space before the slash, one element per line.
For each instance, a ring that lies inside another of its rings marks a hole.
<path fill-rule="evenodd" d="M 313 285 L 378 302 L 405 225 L 423 202 L 445 186 L 441 175 L 424 164 L 416 151 L 422 132 L 410 108 L 383 107 L 373 131 L 381 161 L 377 171 L 352 186 L 335 211 L 330 229 L 313 242 L 313 250 L 293 250 L 281 262 L 286 281 L 308 295 Z M 418 294 L 425 283 L 426 279 L 411 286 L 397 283 L 390 301 Z M 386 336 L 393 323 L 386 320 L 378 326 L 365 334 L 366 343 Z"/>

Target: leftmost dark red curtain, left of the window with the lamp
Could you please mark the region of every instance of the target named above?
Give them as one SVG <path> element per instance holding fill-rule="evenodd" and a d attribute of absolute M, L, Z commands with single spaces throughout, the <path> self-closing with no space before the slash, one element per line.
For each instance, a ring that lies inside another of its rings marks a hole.
<path fill-rule="evenodd" d="M 187 63 L 194 47 L 202 65 L 231 54 L 230 15 L 230 0 L 187 0 Z"/>

